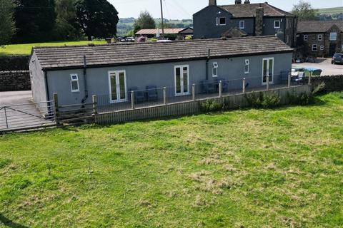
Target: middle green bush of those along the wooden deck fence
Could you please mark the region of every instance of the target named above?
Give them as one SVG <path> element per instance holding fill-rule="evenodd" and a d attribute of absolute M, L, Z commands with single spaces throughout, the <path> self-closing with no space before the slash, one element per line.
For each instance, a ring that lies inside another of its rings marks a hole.
<path fill-rule="evenodd" d="M 281 98 L 276 93 L 250 93 L 245 99 L 252 108 L 275 108 L 280 105 Z"/>

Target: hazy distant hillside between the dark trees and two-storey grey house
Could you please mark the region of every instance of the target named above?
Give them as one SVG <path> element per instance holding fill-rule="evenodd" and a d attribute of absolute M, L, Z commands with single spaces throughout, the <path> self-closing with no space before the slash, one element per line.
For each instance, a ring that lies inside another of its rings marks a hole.
<path fill-rule="evenodd" d="M 161 19 L 155 19 L 156 25 L 161 23 Z M 184 20 L 172 20 L 172 19 L 164 19 L 166 24 L 172 24 L 174 28 L 186 28 L 193 26 L 192 19 L 184 19 Z M 129 31 L 134 28 L 134 18 L 123 18 L 119 19 L 117 25 L 117 35 L 118 36 L 125 36 Z"/>

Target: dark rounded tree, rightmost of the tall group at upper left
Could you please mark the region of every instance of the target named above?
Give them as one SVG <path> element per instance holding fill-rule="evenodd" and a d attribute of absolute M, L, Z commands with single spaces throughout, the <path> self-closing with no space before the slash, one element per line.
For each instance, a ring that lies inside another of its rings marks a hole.
<path fill-rule="evenodd" d="M 77 0 L 76 19 L 88 40 L 116 36 L 118 11 L 106 0 Z"/>

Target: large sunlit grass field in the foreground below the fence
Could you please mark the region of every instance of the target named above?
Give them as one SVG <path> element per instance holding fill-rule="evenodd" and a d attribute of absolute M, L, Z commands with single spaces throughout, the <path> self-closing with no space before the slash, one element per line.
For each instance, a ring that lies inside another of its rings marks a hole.
<path fill-rule="evenodd" d="M 2 135 L 0 177 L 0 227 L 343 227 L 343 93 Z"/>

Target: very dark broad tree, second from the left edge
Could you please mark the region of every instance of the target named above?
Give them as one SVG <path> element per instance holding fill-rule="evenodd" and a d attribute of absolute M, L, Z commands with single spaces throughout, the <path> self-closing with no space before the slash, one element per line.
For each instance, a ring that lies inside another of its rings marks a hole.
<path fill-rule="evenodd" d="M 16 0 L 14 43 L 51 41 L 55 25 L 54 0 Z"/>

